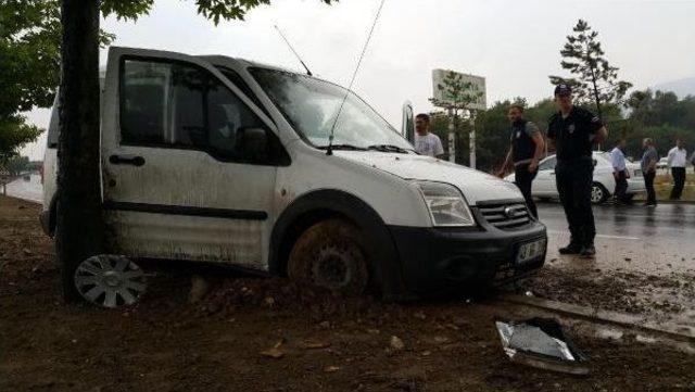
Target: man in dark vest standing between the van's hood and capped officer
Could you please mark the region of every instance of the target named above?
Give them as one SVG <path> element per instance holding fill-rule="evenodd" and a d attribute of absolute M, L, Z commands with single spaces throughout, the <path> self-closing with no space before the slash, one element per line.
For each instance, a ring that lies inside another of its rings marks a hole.
<path fill-rule="evenodd" d="M 539 172 L 539 161 L 543 154 L 545 142 L 535 124 L 523 118 L 523 106 L 513 104 L 507 114 L 511 123 L 509 151 L 497 176 L 504 176 L 507 167 L 514 163 L 514 182 L 519 187 L 529 211 L 535 218 L 539 213 L 531 195 L 531 185 Z"/>

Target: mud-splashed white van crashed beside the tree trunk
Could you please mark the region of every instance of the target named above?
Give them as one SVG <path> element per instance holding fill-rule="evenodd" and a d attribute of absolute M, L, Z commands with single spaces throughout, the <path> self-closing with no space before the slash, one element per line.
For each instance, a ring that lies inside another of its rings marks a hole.
<path fill-rule="evenodd" d="M 346 92 L 337 85 L 227 56 L 115 47 L 103 77 L 113 254 L 229 264 L 387 298 L 506 281 L 544 263 L 545 227 L 514 185 L 417 154 L 353 93 L 331 151 Z M 53 112 L 41 214 L 51 236 Z"/>

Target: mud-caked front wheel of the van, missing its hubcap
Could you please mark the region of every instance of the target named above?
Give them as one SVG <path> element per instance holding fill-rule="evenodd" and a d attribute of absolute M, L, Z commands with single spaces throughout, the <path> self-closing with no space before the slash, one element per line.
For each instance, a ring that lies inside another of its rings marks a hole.
<path fill-rule="evenodd" d="M 306 229 L 288 260 L 288 276 L 301 283 L 349 295 L 363 294 L 369 286 L 365 241 L 354 225 L 328 219 Z"/>

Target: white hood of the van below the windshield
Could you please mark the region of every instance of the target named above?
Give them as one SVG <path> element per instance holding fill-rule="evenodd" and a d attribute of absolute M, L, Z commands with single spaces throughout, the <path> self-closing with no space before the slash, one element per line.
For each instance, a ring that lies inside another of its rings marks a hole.
<path fill-rule="evenodd" d="M 334 155 L 406 180 L 451 184 L 460 189 L 470 205 L 483 201 L 523 201 L 521 192 L 514 184 L 431 156 L 377 151 L 334 151 Z"/>

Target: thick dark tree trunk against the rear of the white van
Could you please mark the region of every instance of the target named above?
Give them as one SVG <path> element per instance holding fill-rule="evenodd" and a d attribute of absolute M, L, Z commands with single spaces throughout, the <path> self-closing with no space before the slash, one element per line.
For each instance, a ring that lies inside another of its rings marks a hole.
<path fill-rule="evenodd" d="M 79 294 L 79 263 L 103 253 L 99 165 L 99 0 L 62 0 L 58 230 L 63 298 Z"/>

